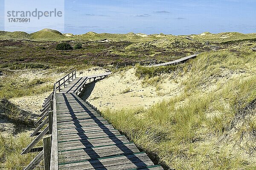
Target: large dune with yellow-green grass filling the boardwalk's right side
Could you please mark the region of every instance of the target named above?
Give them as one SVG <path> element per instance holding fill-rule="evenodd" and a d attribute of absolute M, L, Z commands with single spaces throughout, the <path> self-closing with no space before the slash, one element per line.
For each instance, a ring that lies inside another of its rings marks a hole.
<path fill-rule="evenodd" d="M 163 74 L 172 75 L 173 81 L 183 77 L 183 92 L 148 110 L 106 110 L 102 114 L 170 169 L 253 170 L 255 67 L 256 53 L 217 51 L 176 66 L 138 68 L 138 77 L 144 79 Z"/>

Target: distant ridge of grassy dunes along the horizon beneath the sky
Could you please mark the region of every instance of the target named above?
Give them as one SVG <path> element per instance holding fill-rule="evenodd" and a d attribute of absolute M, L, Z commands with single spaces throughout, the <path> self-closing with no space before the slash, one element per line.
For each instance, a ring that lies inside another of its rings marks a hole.
<path fill-rule="evenodd" d="M 68 35 L 68 36 L 65 36 Z M 67 40 L 81 40 L 81 41 L 97 41 L 97 40 L 114 40 L 114 41 L 131 41 L 131 42 L 150 42 L 157 40 L 175 40 L 175 39 L 185 39 L 186 36 L 174 36 L 171 34 L 135 34 L 133 32 L 127 34 L 109 34 L 109 33 L 95 33 L 95 32 L 87 32 L 81 35 L 73 35 L 73 34 L 62 34 L 57 30 L 52 29 L 42 29 L 40 31 L 34 32 L 32 34 L 28 34 L 26 32 L 7 32 L 0 31 L 0 39 L 27 39 L 27 40 L 40 40 L 40 41 L 67 41 Z M 213 41 L 213 42 L 228 42 L 233 40 L 255 40 L 256 34 L 241 34 L 238 32 L 225 32 L 218 34 L 211 34 L 209 32 L 205 32 L 198 35 L 190 35 L 190 37 L 194 40 L 199 40 L 203 42 Z M 189 41 L 189 40 L 188 40 Z"/>

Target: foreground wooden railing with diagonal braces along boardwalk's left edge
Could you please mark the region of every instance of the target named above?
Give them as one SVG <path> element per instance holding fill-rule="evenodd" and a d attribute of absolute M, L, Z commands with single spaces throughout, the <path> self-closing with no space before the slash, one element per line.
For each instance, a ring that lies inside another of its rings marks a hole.
<path fill-rule="evenodd" d="M 35 125 L 38 127 L 30 137 L 36 138 L 23 150 L 21 154 L 40 152 L 24 170 L 32 170 L 44 159 L 44 170 L 58 170 L 58 139 L 57 139 L 57 113 L 56 113 L 56 85 L 53 92 L 45 99 L 41 114 Z M 47 125 L 48 123 L 48 125 Z M 46 126 L 46 127 L 45 127 Z M 43 131 L 39 132 L 41 128 Z M 43 139 L 43 147 L 35 145 Z"/>

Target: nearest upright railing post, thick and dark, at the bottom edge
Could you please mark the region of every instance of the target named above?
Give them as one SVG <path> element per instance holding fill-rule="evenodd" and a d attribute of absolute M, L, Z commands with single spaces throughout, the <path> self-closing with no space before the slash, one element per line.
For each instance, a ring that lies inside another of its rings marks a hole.
<path fill-rule="evenodd" d="M 44 170 L 50 170 L 51 147 L 52 147 L 52 135 L 46 135 L 46 137 L 43 138 Z"/>

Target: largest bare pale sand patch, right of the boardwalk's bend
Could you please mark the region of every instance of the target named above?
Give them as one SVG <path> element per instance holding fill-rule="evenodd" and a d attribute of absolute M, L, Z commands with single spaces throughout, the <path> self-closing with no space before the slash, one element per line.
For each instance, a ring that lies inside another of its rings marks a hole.
<path fill-rule="evenodd" d="M 128 90 L 128 93 L 123 91 Z M 178 85 L 169 80 L 163 79 L 161 90 L 155 87 L 142 86 L 142 79 L 135 76 L 135 69 L 114 73 L 110 77 L 98 82 L 87 84 L 86 90 L 81 94 L 82 99 L 87 99 L 90 104 L 99 110 L 106 108 L 149 108 L 163 99 L 170 99 L 179 93 Z"/>

